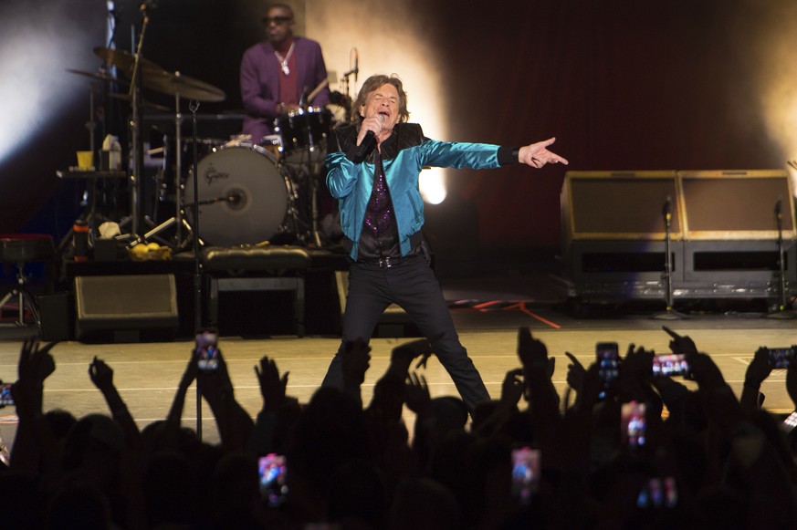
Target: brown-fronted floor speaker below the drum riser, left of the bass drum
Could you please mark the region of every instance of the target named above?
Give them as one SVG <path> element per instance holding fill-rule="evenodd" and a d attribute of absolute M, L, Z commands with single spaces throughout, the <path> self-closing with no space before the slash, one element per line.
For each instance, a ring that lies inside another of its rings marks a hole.
<path fill-rule="evenodd" d="M 179 326 L 174 275 L 76 276 L 75 303 L 81 341 L 163 340 Z"/>

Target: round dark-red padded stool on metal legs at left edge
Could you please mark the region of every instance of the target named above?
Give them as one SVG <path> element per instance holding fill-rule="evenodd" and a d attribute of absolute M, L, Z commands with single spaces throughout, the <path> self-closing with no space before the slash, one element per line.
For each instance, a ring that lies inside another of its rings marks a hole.
<path fill-rule="evenodd" d="M 0 234 L 0 263 L 16 268 L 16 286 L 0 299 L 0 315 L 16 302 L 16 326 L 40 327 L 37 301 L 27 288 L 30 275 L 26 275 L 25 267 L 30 262 L 46 262 L 46 266 L 52 265 L 54 257 L 55 246 L 50 235 Z"/>

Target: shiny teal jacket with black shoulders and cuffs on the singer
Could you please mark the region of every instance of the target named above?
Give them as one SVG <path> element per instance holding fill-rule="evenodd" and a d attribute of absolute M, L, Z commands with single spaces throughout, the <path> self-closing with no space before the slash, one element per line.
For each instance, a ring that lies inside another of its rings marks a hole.
<path fill-rule="evenodd" d="M 338 200 L 341 228 L 348 239 L 344 244 L 353 260 L 357 259 L 365 208 L 371 198 L 375 161 L 375 152 L 358 160 L 362 155 L 357 155 L 357 130 L 356 125 L 335 130 L 325 160 L 327 187 Z M 382 163 L 393 200 L 402 255 L 407 255 L 415 242 L 420 241 L 424 226 L 424 200 L 418 191 L 421 170 L 424 167 L 498 168 L 511 161 L 512 155 L 511 152 L 506 154 L 507 149 L 486 143 L 429 140 L 417 123 L 395 125 L 391 137 L 382 142 Z"/>

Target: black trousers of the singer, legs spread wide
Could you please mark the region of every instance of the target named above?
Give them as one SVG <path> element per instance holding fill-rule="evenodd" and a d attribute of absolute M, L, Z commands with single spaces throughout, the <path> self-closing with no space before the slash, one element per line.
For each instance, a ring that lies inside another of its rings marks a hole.
<path fill-rule="evenodd" d="M 342 344 L 355 338 L 368 342 L 383 311 L 390 304 L 402 307 L 430 340 L 437 359 L 454 380 L 456 390 L 468 409 L 474 410 L 478 403 L 490 399 L 473 361 L 467 357 L 466 348 L 459 342 L 435 273 L 422 254 L 404 258 L 390 268 L 380 268 L 375 264 L 351 265 L 341 348 Z M 340 356 L 339 349 L 322 386 L 342 388 Z"/>

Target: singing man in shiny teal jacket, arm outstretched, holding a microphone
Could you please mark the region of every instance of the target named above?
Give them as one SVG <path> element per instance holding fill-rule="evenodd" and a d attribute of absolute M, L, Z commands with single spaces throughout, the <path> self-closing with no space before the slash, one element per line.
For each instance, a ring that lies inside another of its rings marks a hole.
<path fill-rule="evenodd" d="M 424 201 L 418 178 L 424 166 L 490 169 L 511 163 L 541 168 L 564 163 L 548 151 L 554 139 L 512 149 L 485 143 L 429 140 L 407 123 L 401 79 L 365 80 L 352 107 L 352 124 L 334 131 L 326 157 L 327 186 L 341 212 L 343 244 L 349 252 L 349 293 L 341 348 L 368 342 L 384 309 L 395 303 L 413 318 L 454 380 L 469 410 L 489 400 L 473 361 L 459 342 L 421 229 Z M 342 388 L 341 349 L 324 385 Z"/>

